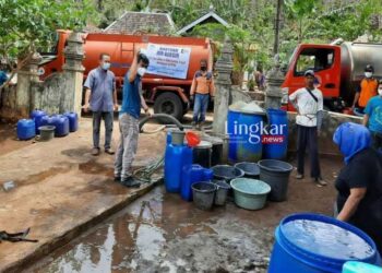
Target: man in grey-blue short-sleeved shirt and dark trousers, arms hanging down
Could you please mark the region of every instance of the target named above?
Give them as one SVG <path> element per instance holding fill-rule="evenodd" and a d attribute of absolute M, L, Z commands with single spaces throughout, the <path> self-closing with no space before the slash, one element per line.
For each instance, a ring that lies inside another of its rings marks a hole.
<path fill-rule="evenodd" d="M 92 70 L 84 84 L 86 88 L 85 104 L 82 107 L 85 112 L 93 112 L 93 155 L 99 155 L 99 128 L 100 120 L 105 122 L 105 153 L 114 154 L 111 150 L 111 134 L 114 110 L 118 110 L 116 76 L 110 70 L 110 56 L 99 55 L 99 67 Z"/>

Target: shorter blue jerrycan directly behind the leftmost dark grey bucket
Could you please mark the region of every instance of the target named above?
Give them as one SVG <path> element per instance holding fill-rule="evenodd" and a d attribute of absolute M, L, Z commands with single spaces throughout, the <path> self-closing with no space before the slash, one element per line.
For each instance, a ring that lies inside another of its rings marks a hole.
<path fill-rule="evenodd" d="M 192 185 L 200 181 L 210 181 L 213 176 L 211 169 L 203 168 L 199 164 L 186 165 L 181 174 L 181 198 L 186 201 L 192 201 Z"/>

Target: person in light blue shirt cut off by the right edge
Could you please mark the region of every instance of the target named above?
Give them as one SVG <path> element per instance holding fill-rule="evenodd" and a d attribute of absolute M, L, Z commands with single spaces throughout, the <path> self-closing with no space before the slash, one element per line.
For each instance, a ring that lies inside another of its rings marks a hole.
<path fill-rule="evenodd" d="M 368 102 L 365 116 L 363 126 L 368 126 L 372 139 L 373 147 L 382 149 L 382 80 L 378 83 L 378 96 L 370 98 Z"/>

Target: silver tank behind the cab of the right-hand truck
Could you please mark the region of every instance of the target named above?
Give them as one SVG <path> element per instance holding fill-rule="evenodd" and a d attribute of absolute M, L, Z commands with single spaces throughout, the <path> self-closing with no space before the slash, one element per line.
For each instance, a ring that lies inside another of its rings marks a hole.
<path fill-rule="evenodd" d="M 367 64 L 374 67 L 377 79 L 382 79 L 382 44 L 346 41 L 341 45 L 341 96 L 345 102 L 353 103 Z"/>

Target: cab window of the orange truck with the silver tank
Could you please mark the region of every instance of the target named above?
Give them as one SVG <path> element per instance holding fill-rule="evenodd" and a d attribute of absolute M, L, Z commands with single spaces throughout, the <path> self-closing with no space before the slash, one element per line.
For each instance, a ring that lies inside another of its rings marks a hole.
<path fill-rule="evenodd" d="M 295 76 L 303 75 L 307 70 L 314 72 L 330 69 L 334 62 L 334 50 L 329 48 L 306 48 L 296 62 Z"/>

